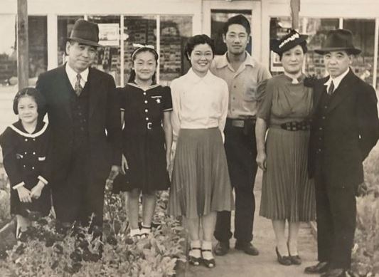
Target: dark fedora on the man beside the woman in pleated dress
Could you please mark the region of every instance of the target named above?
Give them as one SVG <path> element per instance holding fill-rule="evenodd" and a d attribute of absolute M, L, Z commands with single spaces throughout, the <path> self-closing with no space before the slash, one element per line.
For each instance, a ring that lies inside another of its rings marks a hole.
<path fill-rule="evenodd" d="M 321 49 L 315 49 L 318 54 L 324 55 L 331 51 L 349 51 L 353 55 L 361 53 L 361 49 L 353 46 L 353 33 L 346 29 L 331 30 L 326 35 L 326 40 Z"/>

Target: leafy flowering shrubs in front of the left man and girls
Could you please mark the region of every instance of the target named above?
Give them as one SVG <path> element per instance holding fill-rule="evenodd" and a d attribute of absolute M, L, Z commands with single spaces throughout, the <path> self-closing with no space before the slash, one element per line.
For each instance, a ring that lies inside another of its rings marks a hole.
<path fill-rule="evenodd" d="M 2 276 L 173 276 L 176 262 L 185 260 L 183 229 L 162 214 L 167 194 L 159 198 L 151 235 L 133 242 L 120 195 L 106 195 L 102 239 L 88 228 L 59 234 L 53 216 L 33 222 L 21 241 L 0 261 Z"/>

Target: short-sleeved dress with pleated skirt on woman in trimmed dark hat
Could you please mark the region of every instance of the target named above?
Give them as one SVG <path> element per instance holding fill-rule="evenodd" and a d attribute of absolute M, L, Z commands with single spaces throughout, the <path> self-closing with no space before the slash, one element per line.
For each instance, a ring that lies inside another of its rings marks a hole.
<path fill-rule="evenodd" d="M 312 89 L 304 76 L 292 83 L 287 75 L 268 80 L 257 117 L 267 122 L 267 170 L 263 173 L 260 215 L 269 219 L 310 221 L 315 219 L 314 182 L 309 179 L 309 130 L 284 130 L 285 122 L 309 119 Z"/>

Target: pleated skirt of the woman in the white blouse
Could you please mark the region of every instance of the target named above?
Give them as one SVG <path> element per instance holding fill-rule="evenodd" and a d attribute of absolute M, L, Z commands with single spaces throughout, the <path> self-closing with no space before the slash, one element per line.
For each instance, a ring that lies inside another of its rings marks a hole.
<path fill-rule="evenodd" d="M 181 129 L 171 179 L 169 214 L 195 219 L 234 207 L 220 130 Z"/>

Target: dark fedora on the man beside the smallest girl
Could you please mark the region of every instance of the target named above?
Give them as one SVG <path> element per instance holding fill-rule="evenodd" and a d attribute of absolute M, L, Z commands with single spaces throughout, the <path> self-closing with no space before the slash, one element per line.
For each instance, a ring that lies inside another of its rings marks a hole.
<path fill-rule="evenodd" d="M 89 46 L 101 47 L 99 44 L 99 26 L 84 19 L 75 21 L 73 31 L 71 31 L 68 41 L 77 41 Z"/>

